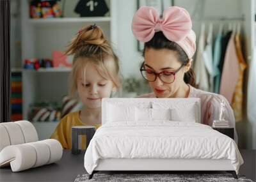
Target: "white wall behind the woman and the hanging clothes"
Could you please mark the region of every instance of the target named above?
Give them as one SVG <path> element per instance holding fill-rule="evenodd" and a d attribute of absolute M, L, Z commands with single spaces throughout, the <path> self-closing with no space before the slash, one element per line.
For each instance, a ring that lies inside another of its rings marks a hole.
<path fill-rule="evenodd" d="M 247 48 L 251 48 L 252 32 L 248 29 L 252 27 L 250 23 L 250 4 L 255 0 L 175 0 L 176 6 L 182 6 L 189 11 L 193 20 L 193 29 L 197 37 L 200 33 L 200 25 L 202 20 L 206 26 L 212 22 L 214 24 L 214 31 L 218 31 L 220 22 L 223 22 L 225 29 L 228 27 L 228 22 L 232 21 L 220 21 L 218 18 L 236 18 L 245 15 L 245 21 L 243 22 L 242 31 L 246 34 L 244 42 Z M 121 69 L 124 77 L 136 75 L 140 77 L 139 64 L 143 61 L 143 57 L 140 56 L 140 52 L 137 51 L 137 42 L 131 31 L 132 17 L 137 9 L 136 0 L 118 0 L 117 1 L 117 43 L 116 49 L 118 56 L 121 60 Z M 254 3 L 256 12 L 256 3 Z M 253 9 L 253 8 L 252 8 Z M 255 14 L 255 13 L 254 13 Z M 207 20 L 205 20 L 207 19 Z M 208 21 L 208 19 L 214 19 Z M 253 19 L 254 20 L 254 19 Z M 233 21 L 234 22 L 234 21 Z M 255 26 L 256 29 L 256 26 Z M 207 30 L 207 28 L 206 28 Z M 248 50 L 247 56 L 250 56 L 251 50 Z M 246 61 L 247 61 L 247 56 Z M 248 98 L 250 99 L 250 98 Z M 244 104 L 246 105 L 246 103 Z M 255 111 L 256 112 L 256 111 Z M 248 122 L 237 123 L 237 133 L 239 135 L 239 147 L 241 148 L 254 148 L 256 149 L 256 120 Z"/>

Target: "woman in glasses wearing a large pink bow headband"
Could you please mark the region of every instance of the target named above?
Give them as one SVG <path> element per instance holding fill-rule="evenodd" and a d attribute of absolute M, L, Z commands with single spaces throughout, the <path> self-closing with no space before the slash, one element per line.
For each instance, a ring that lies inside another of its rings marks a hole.
<path fill-rule="evenodd" d="M 220 103 L 225 103 L 224 118 L 235 128 L 234 113 L 224 96 L 195 88 L 191 68 L 196 50 L 196 36 L 188 11 L 170 7 L 159 17 L 152 7 L 141 7 L 132 20 L 134 36 L 144 42 L 144 63 L 140 71 L 154 93 L 141 97 L 190 98 L 201 100 L 201 121 L 212 125 L 220 117 Z M 235 140 L 237 135 L 235 130 Z"/>

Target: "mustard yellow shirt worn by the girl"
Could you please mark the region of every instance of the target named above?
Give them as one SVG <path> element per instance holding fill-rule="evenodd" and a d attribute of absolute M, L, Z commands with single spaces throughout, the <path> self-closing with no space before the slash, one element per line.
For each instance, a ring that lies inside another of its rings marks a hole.
<path fill-rule="evenodd" d="M 67 114 L 64 118 L 61 119 L 60 123 L 56 127 L 54 133 L 51 135 L 51 139 L 58 140 L 64 149 L 71 149 L 72 148 L 72 126 L 86 126 L 81 119 L 79 118 L 79 113 L 71 112 Z M 101 124 L 92 125 L 95 128 L 99 128 Z M 82 149 L 86 148 L 86 137 L 82 137 Z"/>

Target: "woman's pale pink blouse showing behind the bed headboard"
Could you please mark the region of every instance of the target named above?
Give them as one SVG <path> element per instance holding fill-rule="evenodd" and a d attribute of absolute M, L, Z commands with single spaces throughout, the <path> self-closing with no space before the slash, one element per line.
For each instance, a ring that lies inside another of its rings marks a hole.
<path fill-rule="evenodd" d="M 201 100 L 201 122 L 204 125 L 212 126 L 213 120 L 218 120 L 220 117 L 220 103 L 225 102 L 225 115 L 224 118 L 228 121 L 229 126 L 235 128 L 234 139 L 237 142 L 236 122 L 234 112 L 230 107 L 227 99 L 216 93 L 210 93 L 196 89 L 189 85 L 188 98 L 200 98 Z M 139 96 L 140 98 L 156 98 L 154 93 L 148 93 Z"/>

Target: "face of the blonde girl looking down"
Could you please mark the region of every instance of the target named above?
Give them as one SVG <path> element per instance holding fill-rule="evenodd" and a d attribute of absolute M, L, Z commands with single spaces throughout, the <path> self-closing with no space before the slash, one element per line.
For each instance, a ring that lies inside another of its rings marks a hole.
<path fill-rule="evenodd" d="M 93 63 L 88 62 L 77 77 L 77 92 L 83 104 L 90 109 L 101 107 L 102 98 L 109 98 L 115 86 L 104 79 Z"/>

